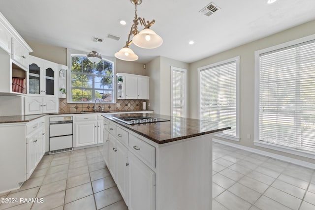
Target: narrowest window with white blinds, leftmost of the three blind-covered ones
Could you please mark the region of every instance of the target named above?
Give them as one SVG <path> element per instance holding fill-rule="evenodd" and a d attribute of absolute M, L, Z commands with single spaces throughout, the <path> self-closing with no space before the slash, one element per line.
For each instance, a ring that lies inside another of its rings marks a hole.
<path fill-rule="evenodd" d="M 186 69 L 171 67 L 172 77 L 172 116 L 186 117 Z"/>

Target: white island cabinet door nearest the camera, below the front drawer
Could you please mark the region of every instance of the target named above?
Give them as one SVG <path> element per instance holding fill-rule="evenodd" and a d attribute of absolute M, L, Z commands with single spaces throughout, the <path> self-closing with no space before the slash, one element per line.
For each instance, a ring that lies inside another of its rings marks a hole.
<path fill-rule="evenodd" d="M 128 152 L 129 210 L 155 210 L 155 173 Z"/>

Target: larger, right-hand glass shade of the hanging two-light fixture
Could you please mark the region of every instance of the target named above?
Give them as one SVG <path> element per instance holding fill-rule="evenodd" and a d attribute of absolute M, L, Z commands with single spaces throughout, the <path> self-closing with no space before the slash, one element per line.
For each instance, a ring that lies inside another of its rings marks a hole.
<path fill-rule="evenodd" d="M 153 49 L 162 45 L 163 39 L 153 30 L 144 29 L 132 38 L 133 44 L 145 49 Z"/>

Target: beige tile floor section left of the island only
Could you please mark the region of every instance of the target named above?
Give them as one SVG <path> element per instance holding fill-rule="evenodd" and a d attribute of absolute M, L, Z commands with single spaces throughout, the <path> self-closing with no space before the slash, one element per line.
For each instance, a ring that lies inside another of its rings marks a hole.
<path fill-rule="evenodd" d="M 43 198 L 43 203 L 2 203 L 0 210 L 127 210 L 102 147 L 45 155 L 19 190 L 0 197 Z"/>

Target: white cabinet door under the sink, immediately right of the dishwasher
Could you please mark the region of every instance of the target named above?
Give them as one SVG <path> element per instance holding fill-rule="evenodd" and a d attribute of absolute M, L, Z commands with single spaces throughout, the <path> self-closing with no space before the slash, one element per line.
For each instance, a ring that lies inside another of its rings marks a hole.
<path fill-rule="evenodd" d="M 75 122 L 75 147 L 94 145 L 97 143 L 97 122 Z"/>

